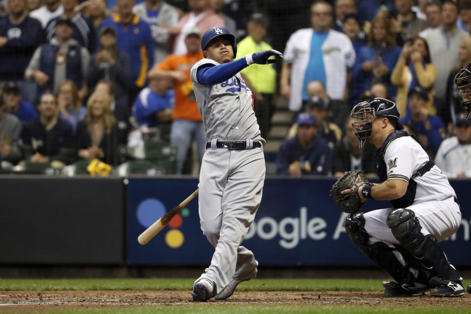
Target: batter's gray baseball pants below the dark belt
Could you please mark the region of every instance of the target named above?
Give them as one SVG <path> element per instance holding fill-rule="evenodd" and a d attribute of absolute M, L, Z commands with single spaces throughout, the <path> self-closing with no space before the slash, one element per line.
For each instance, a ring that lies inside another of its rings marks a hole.
<path fill-rule="evenodd" d="M 212 147 L 205 152 L 198 184 L 199 215 L 201 230 L 215 251 L 200 278 L 216 284 L 214 294 L 233 278 L 246 279 L 257 267 L 254 254 L 240 243 L 260 206 L 264 179 L 262 148 L 231 151 Z"/>

